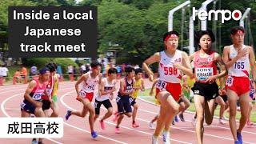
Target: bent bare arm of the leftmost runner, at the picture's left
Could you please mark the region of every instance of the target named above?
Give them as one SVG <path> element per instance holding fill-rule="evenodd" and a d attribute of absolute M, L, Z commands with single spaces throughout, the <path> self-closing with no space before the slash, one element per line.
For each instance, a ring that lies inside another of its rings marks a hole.
<path fill-rule="evenodd" d="M 29 86 L 27 86 L 26 88 L 26 91 L 25 91 L 25 94 L 24 94 L 24 98 L 32 103 L 34 106 L 36 107 L 40 107 L 42 106 L 42 103 L 41 102 L 37 102 L 35 101 L 33 98 L 30 97 L 30 93 L 32 92 L 32 90 L 34 89 L 34 87 L 37 86 L 37 82 L 35 82 L 34 80 L 30 82 Z"/>

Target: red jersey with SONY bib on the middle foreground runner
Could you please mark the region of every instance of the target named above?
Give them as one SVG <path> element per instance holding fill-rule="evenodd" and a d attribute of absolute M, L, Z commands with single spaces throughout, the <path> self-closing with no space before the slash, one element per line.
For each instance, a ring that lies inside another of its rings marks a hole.
<path fill-rule="evenodd" d="M 214 51 L 207 58 L 200 57 L 200 51 L 194 54 L 194 72 L 198 82 L 206 82 L 206 79 L 217 74 L 217 65 L 214 61 Z"/>

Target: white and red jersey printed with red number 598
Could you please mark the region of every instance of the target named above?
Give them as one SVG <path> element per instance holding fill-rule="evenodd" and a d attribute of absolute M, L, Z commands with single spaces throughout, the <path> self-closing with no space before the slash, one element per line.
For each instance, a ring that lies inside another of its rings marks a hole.
<path fill-rule="evenodd" d="M 172 58 L 168 57 L 165 51 L 160 52 L 158 73 L 161 81 L 171 83 L 180 83 L 182 81 L 182 73 L 174 68 L 174 63 L 182 65 L 182 51 L 176 50 Z"/>

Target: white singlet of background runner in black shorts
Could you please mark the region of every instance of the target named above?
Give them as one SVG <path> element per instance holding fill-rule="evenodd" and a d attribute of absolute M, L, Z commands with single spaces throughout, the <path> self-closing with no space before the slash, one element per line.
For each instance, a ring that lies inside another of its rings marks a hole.
<path fill-rule="evenodd" d="M 116 80 L 113 80 L 112 82 L 108 82 L 107 78 L 103 78 L 102 82 L 105 82 L 105 86 L 104 86 L 105 92 L 112 90 L 114 88 L 115 84 L 117 83 Z M 100 102 L 105 101 L 109 98 L 110 98 L 110 94 L 105 94 L 105 95 L 101 95 L 101 96 L 99 96 L 97 94 L 97 96 L 96 96 L 96 100 L 100 101 Z"/>

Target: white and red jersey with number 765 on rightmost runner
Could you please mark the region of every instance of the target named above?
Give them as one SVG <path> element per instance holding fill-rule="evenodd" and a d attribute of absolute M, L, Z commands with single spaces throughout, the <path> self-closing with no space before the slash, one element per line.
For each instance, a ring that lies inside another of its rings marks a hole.
<path fill-rule="evenodd" d="M 242 49 L 247 49 L 245 45 L 242 45 Z M 238 55 L 238 51 L 234 49 L 234 46 L 230 46 L 230 59 Z M 245 57 L 239 58 L 233 66 L 229 68 L 230 76 L 234 77 L 249 77 L 250 74 L 250 61 L 249 54 L 246 54 Z"/>

